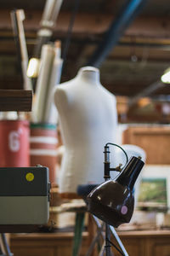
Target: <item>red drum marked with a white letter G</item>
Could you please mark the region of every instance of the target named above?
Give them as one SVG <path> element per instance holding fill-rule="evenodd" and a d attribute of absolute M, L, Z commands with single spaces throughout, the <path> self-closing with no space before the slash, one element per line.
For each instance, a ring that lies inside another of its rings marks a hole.
<path fill-rule="evenodd" d="M 30 166 L 27 120 L 0 120 L 0 167 Z"/>

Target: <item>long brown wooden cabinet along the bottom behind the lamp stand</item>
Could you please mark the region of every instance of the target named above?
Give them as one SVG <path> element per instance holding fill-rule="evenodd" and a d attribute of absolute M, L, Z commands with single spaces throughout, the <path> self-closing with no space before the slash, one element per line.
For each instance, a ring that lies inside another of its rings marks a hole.
<path fill-rule="evenodd" d="M 170 230 L 118 231 L 118 235 L 129 256 L 170 255 Z M 11 251 L 14 256 L 70 256 L 73 236 L 71 232 L 14 234 Z M 83 232 L 80 255 L 85 255 L 87 249 L 88 232 Z"/>

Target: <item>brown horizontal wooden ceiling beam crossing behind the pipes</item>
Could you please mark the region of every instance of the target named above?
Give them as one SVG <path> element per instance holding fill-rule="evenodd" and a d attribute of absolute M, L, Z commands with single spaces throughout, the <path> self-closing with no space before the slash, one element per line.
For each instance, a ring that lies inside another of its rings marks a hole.
<path fill-rule="evenodd" d="M 42 11 L 26 11 L 24 26 L 26 33 L 36 33 L 40 27 Z M 54 33 L 67 32 L 71 13 L 60 12 Z M 104 33 L 114 19 L 112 15 L 102 14 L 77 14 L 73 33 L 85 33 L 87 35 Z M 0 32 L 12 32 L 10 10 L 0 10 Z M 168 17 L 142 17 L 139 16 L 127 29 L 125 36 L 145 38 L 170 38 L 170 20 Z"/>

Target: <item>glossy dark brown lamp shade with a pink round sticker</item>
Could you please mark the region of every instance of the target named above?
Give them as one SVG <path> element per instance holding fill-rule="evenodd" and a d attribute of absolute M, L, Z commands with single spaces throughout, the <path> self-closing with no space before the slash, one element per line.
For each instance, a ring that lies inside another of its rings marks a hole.
<path fill-rule="evenodd" d="M 114 227 L 128 223 L 134 208 L 133 185 L 143 166 L 144 162 L 133 156 L 114 180 L 101 183 L 88 194 L 88 211 Z"/>

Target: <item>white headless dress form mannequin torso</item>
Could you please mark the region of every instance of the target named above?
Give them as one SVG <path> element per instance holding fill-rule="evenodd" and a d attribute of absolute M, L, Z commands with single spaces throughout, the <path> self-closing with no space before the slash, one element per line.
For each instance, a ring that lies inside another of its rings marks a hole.
<path fill-rule="evenodd" d="M 100 84 L 99 69 L 82 67 L 55 87 L 54 102 L 65 145 L 59 192 L 76 194 L 79 184 L 104 182 L 104 146 L 116 143 L 116 97 Z"/>

